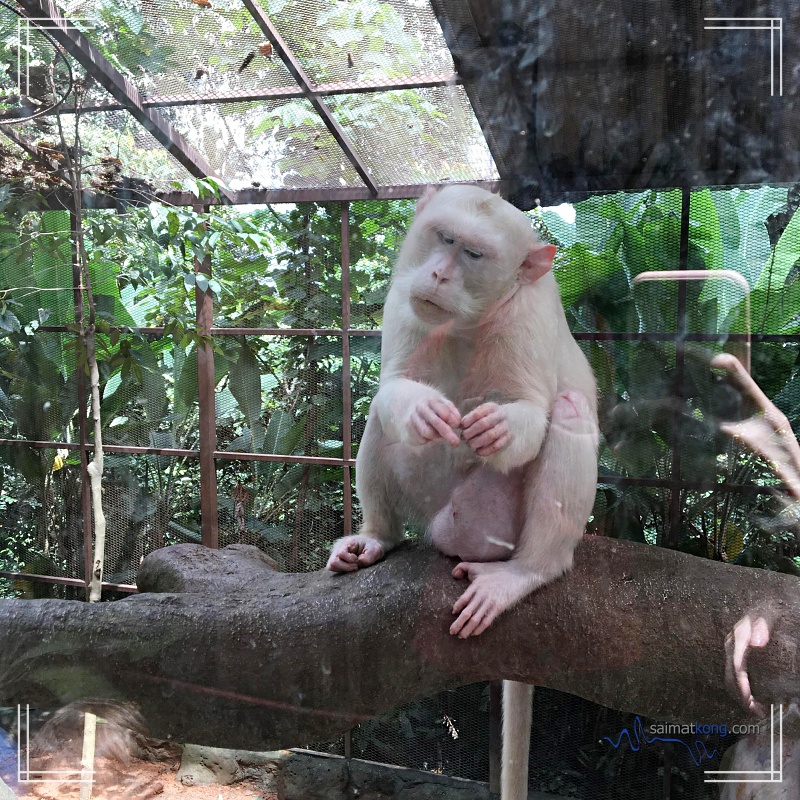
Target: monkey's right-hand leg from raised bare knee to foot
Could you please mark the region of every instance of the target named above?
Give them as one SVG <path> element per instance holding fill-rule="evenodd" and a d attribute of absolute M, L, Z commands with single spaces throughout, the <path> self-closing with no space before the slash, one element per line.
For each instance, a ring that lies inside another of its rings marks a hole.
<path fill-rule="evenodd" d="M 477 636 L 508 608 L 572 566 L 592 510 L 597 485 L 597 423 L 586 397 L 563 393 L 553 404 L 552 421 L 539 458 L 524 488 L 524 520 L 509 561 L 462 562 L 454 578 L 469 588 L 456 601 L 450 633 Z"/>

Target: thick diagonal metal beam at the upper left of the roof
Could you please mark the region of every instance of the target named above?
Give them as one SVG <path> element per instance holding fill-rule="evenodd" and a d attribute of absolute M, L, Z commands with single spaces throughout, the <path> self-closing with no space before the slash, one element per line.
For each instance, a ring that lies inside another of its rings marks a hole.
<path fill-rule="evenodd" d="M 196 178 L 219 178 L 214 168 L 176 131 L 158 111 L 145 108 L 136 87 L 62 16 L 53 0 L 19 0 L 28 17 L 53 21 L 48 34 L 55 39 L 106 91 L 125 105 L 133 117 Z M 226 194 L 223 191 L 223 194 Z M 227 196 L 227 194 L 226 194 Z"/>

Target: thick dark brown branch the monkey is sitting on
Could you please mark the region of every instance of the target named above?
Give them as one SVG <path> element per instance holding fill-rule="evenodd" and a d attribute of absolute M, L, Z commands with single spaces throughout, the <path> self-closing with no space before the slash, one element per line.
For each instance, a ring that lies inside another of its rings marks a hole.
<path fill-rule="evenodd" d="M 414 698 L 511 678 L 673 721 L 742 721 L 726 634 L 776 614 L 750 656 L 762 702 L 800 694 L 800 582 L 587 537 L 575 569 L 486 633 L 447 633 L 454 562 L 412 546 L 351 575 L 284 574 L 256 548 L 176 545 L 140 594 L 89 605 L 0 601 L 0 704 L 139 704 L 154 736 L 269 749 L 330 738 Z M 174 592 L 174 593 L 168 593 Z"/>

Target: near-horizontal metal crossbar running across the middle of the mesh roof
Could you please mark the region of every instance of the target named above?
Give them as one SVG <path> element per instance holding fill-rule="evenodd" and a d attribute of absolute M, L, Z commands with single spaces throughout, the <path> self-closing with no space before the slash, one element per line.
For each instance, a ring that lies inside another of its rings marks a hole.
<path fill-rule="evenodd" d="M 321 97 L 331 97 L 341 94 L 372 94 L 375 92 L 394 92 L 406 89 L 432 89 L 439 86 L 458 86 L 461 78 L 455 72 L 446 75 L 420 75 L 414 78 L 395 78 L 393 80 L 382 80 L 374 83 L 363 81 L 342 81 L 339 83 L 318 83 L 313 84 L 314 93 Z M 208 94 L 172 94 L 172 95 L 151 95 L 142 99 L 143 108 L 174 108 L 175 106 L 188 105 L 215 105 L 218 103 L 256 103 L 264 100 L 293 100 L 306 97 L 300 87 L 274 87 L 264 89 L 242 90 L 240 92 L 219 92 Z M 104 111 L 127 111 L 129 106 L 124 103 L 84 103 L 80 106 L 83 114 L 98 113 Z M 62 104 L 57 111 L 52 114 L 74 114 L 74 105 Z M 0 123 L 7 119 L 16 119 L 26 116 L 27 111 L 23 109 L 10 109 L 0 114 Z M 43 114 L 47 117 L 51 114 Z"/>

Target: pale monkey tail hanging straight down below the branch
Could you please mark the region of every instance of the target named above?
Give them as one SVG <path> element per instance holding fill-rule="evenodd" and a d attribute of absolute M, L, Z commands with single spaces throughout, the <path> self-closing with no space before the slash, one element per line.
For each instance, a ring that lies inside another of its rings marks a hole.
<path fill-rule="evenodd" d="M 503 765 L 500 800 L 527 800 L 533 686 L 503 681 Z"/>

